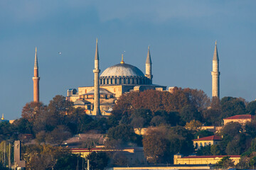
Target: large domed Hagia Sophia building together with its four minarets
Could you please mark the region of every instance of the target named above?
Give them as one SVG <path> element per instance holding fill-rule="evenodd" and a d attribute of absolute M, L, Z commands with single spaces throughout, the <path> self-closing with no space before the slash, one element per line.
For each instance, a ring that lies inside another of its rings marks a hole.
<path fill-rule="evenodd" d="M 93 69 L 94 86 L 81 86 L 77 89 L 68 89 L 66 100 L 73 101 L 75 108 L 84 108 L 88 115 L 111 115 L 114 103 L 122 94 L 131 91 L 144 91 L 155 89 L 166 91 L 166 86 L 153 84 L 152 62 L 148 48 L 146 55 L 145 74 L 137 67 L 122 61 L 119 64 L 108 67 L 100 74 L 100 57 L 96 41 L 95 69 Z M 213 53 L 212 75 L 212 96 L 220 97 L 220 72 L 217 43 Z M 39 101 L 39 80 L 38 59 L 35 54 L 34 77 L 33 77 L 33 98 Z M 172 87 L 168 89 L 171 92 Z"/>

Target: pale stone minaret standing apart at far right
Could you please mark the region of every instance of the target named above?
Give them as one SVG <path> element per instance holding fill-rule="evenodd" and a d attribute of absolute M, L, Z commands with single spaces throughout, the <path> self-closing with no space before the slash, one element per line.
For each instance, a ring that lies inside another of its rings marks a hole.
<path fill-rule="evenodd" d="M 219 72 L 219 60 L 217 41 L 215 42 L 215 50 L 213 54 L 213 72 L 212 74 L 212 96 L 220 98 L 220 72 Z"/>

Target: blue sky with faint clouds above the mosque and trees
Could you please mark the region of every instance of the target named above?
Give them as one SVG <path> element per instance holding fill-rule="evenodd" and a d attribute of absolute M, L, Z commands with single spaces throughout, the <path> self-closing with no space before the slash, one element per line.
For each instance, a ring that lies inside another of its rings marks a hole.
<path fill-rule="evenodd" d="M 234 0 L 0 1 L 0 113 L 20 118 L 33 100 L 35 47 L 43 103 L 92 85 L 96 38 L 102 72 L 122 53 L 144 72 L 150 45 L 154 84 L 208 96 L 217 40 L 220 96 L 255 100 L 255 8 L 256 1 Z"/>

